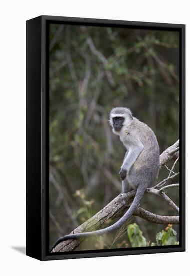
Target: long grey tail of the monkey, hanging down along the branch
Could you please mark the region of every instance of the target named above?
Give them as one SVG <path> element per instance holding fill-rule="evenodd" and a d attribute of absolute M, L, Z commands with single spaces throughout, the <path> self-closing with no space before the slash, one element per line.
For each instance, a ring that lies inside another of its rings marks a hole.
<path fill-rule="evenodd" d="M 83 233 L 76 233 L 76 234 L 70 234 L 66 235 L 64 237 L 59 238 L 56 240 L 56 242 L 53 244 L 52 249 L 55 248 L 60 242 L 68 239 L 79 239 L 79 238 L 84 238 L 84 237 L 89 237 L 89 236 L 94 236 L 94 235 L 103 235 L 105 233 L 111 232 L 113 230 L 119 229 L 131 216 L 132 214 L 136 211 L 138 208 L 138 205 L 140 203 L 141 198 L 143 197 L 144 193 L 146 191 L 146 187 L 143 187 L 143 185 L 138 186 L 136 195 L 134 197 L 134 200 L 127 210 L 127 212 L 113 225 L 108 226 L 107 228 L 97 230 L 97 231 L 92 231 L 92 232 L 83 232 Z M 50 250 L 50 252 L 52 251 Z"/>

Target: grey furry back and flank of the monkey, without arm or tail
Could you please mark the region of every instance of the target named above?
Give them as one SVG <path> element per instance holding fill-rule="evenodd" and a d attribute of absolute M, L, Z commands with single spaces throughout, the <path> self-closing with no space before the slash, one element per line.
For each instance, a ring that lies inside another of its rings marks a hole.
<path fill-rule="evenodd" d="M 145 123 L 133 118 L 131 124 L 127 127 L 129 134 L 126 139 L 130 140 L 139 137 L 144 148 L 128 173 L 128 180 L 131 184 L 138 186 L 145 182 L 150 187 L 159 172 L 159 145 L 152 129 Z"/>

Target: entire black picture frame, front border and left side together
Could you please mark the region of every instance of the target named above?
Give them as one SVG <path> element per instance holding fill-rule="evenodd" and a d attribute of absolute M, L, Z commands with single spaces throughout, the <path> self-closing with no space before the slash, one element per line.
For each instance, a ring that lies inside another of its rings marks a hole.
<path fill-rule="evenodd" d="M 162 247 L 49 253 L 49 98 L 48 32 L 50 23 L 174 30 L 180 34 L 180 244 Z M 185 25 L 60 16 L 26 22 L 26 254 L 39 260 L 120 256 L 185 251 Z"/>

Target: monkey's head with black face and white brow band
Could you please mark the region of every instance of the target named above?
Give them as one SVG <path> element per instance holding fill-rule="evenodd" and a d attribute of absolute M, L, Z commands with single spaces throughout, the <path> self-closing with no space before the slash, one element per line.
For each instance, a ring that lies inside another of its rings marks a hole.
<path fill-rule="evenodd" d="M 110 112 L 109 123 L 112 126 L 113 133 L 118 134 L 123 126 L 128 126 L 133 120 L 130 109 L 125 107 L 113 108 Z"/>

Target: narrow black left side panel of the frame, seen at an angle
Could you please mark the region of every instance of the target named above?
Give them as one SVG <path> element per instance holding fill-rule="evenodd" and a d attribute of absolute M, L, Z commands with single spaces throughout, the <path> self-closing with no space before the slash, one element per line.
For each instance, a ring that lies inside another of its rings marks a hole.
<path fill-rule="evenodd" d="M 26 22 L 26 255 L 36 259 L 42 259 L 41 22 Z"/>

